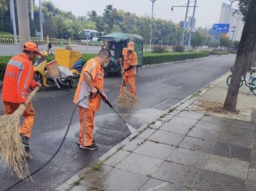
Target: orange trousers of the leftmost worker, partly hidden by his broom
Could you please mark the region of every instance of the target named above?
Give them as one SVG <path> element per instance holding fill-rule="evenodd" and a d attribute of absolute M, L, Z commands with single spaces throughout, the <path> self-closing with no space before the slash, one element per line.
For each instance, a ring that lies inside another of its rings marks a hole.
<path fill-rule="evenodd" d="M 11 102 L 4 102 L 4 114 L 10 115 L 15 112 L 18 108 L 20 103 L 11 103 Z M 25 135 L 26 137 L 31 137 L 31 130 L 33 128 L 33 124 L 36 118 L 36 112 L 31 102 L 28 103 L 25 111 L 23 112 L 22 116 L 24 116 L 24 122 L 22 126 L 20 126 L 20 134 Z"/>

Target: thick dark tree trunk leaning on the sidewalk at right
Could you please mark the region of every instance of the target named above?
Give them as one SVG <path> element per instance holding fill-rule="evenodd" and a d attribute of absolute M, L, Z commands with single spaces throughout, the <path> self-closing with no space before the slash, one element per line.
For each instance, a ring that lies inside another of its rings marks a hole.
<path fill-rule="evenodd" d="M 237 96 L 239 93 L 239 84 L 242 75 L 245 77 L 246 72 L 250 65 L 256 50 L 256 0 L 250 1 L 250 6 L 244 22 L 243 33 L 239 43 L 239 47 L 236 55 L 236 62 L 234 65 L 234 72 L 228 93 L 224 103 L 224 109 L 227 111 L 235 112 Z"/>

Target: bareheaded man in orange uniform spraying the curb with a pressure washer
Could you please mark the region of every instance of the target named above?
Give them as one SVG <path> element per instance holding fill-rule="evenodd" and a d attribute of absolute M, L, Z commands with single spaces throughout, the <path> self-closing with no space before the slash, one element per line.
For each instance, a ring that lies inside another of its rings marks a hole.
<path fill-rule="evenodd" d="M 107 98 L 103 89 L 103 68 L 108 66 L 110 57 L 111 53 L 109 50 L 101 49 L 97 57 L 85 63 L 81 72 L 74 103 L 78 103 L 84 95 L 92 92 L 92 96 L 88 96 L 78 105 L 81 128 L 77 144 L 79 144 L 81 149 L 98 149 L 93 140 L 94 116 L 95 112 L 100 109 L 100 95 L 97 94 L 97 88 Z"/>

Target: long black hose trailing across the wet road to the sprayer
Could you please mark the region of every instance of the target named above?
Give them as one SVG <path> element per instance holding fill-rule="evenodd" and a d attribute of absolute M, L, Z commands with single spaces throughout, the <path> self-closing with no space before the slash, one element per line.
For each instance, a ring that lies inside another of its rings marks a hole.
<path fill-rule="evenodd" d="M 35 174 L 36 172 L 40 171 L 40 170 L 41 170 L 42 168 L 44 168 L 47 164 L 49 164 L 49 162 L 51 162 L 51 160 L 52 160 L 52 159 L 57 155 L 57 153 L 60 151 L 60 148 L 61 148 L 61 146 L 63 145 L 63 142 L 65 141 L 65 139 L 66 139 L 66 137 L 67 137 L 68 130 L 69 130 L 70 125 L 71 125 L 71 123 L 72 123 L 72 120 L 73 120 L 73 118 L 74 118 L 74 114 L 75 114 L 75 112 L 76 112 L 76 109 L 77 109 L 78 104 L 79 104 L 81 101 L 83 101 L 85 98 L 87 98 L 89 95 L 91 95 L 91 93 L 88 94 L 88 95 L 86 95 L 86 96 L 84 96 L 84 97 L 83 97 L 81 100 L 79 100 L 79 102 L 76 104 L 76 107 L 75 107 L 74 111 L 72 112 L 72 115 L 71 115 L 71 118 L 70 118 L 70 121 L 69 121 L 67 130 L 66 130 L 66 133 L 65 133 L 65 135 L 64 135 L 64 137 L 63 137 L 63 139 L 62 139 L 62 141 L 61 141 L 61 144 L 60 144 L 59 148 L 58 148 L 57 151 L 54 153 L 54 155 L 52 155 L 52 157 L 51 157 L 44 165 L 42 165 L 42 167 L 40 167 L 39 169 L 37 169 L 37 170 L 34 171 L 33 173 L 29 174 L 26 178 L 24 178 L 24 179 L 18 181 L 17 183 L 15 183 L 14 185 L 12 185 L 12 187 L 7 188 L 6 190 L 10 190 L 11 188 L 13 188 L 13 187 L 15 187 L 16 185 L 18 185 L 19 183 L 21 183 L 22 181 L 27 180 L 30 176 L 32 176 L 32 175 Z M 4 190 L 4 191 L 6 191 L 6 190 Z"/>

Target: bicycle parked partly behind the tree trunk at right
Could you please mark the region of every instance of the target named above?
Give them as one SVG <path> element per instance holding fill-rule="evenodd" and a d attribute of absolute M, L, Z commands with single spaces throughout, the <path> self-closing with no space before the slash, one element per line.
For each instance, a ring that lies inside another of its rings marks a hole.
<path fill-rule="evenodd" d="M 234 67 L 232 66 L 230 68 L 230 72 L 233 72 L 233 71 L 234 71 Z M 253 77 L 253 73 L 256 73 L 256 69 L 250 68 L 249 84 L 246 82 L 246 79 L 244 79 L 244 77 L 242 76 L 239 88 L 241 88 L 243 84 L 245 84 L 245 86 L 247 86 L 250 89 L 249 93 L 252 92 L 253 95 L 256 95 L 256 77 Z M 232 75 L 228 76 L 227 78 L 226 82 L 228 87 L 230 86 L 231 78 L 232 78 Z"/>

